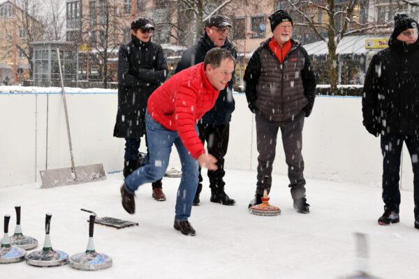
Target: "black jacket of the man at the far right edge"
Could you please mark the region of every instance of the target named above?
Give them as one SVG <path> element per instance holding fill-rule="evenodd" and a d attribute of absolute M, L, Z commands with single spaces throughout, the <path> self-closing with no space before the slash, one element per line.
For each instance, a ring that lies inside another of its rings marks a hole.
<path fill-rule="evenodd" d="M 419 134 L 419 40 L 390 38 L 372 58 L 365 77 L 362 116 L 373 135 Z"/>

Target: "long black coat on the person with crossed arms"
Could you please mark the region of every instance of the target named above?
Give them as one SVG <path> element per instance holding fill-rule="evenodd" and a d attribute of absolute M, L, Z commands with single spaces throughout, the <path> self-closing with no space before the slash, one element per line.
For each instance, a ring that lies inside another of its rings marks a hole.
<path fill-rule="evenodd" d="M 114 137 L 145 135 L 145 110 L 152 92 L 166 80 L 168 66 L 160 45 L 135 36 L 119 48 L 118 112 Z"/>

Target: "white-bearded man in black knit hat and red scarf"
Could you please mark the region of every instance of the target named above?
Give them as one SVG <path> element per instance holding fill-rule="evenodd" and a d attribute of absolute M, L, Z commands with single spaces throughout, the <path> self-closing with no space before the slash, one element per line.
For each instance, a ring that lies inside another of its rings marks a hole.
<path fill-rule="evenodd" d="M 314 105 L 316 80 L 307 51 L 291 39 L 293 19 L 284 10 L 270 15 L 272 38 L 253 53 L 244 73 L 249 109 L 255 114 L 258 147 L 256 195 L 249 208 L 270 191 L 272 165 L 281 129 L 289 187 L 298 213 L 309 213 L 303 176 L 302 127 Z M 267 181 L 265 181 L 267 177 Z"/>

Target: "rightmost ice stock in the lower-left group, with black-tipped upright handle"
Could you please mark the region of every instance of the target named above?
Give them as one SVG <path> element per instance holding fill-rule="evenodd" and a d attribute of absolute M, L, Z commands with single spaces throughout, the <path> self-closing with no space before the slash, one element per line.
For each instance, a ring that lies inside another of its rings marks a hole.
<path fill-rule="evenodd" d="M 68 263 L 73 269 L 82 271 L 98 271 L 108 269 L 112 266 L 112 258 L 108 255 L 96 252 L 93 241 L 94 219 L 91 215 L 89 219 L 89 242 L 85 252 L 75 254 L 68 259 Z"/>

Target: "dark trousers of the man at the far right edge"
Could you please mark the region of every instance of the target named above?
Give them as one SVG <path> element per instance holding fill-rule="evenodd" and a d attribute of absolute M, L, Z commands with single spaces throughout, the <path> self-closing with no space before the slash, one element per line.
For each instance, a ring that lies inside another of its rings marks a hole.
<path fill-rule="evenodd" d="M 383 202 L 385 211 L 399 213 L 400 205 L 400 160 L 403 142 L 411 156 L 413 168 L 413 197 L 415 219 L 419 220 L 419 136 L 418 135 L 381 135 L 383 154 Z"/>

